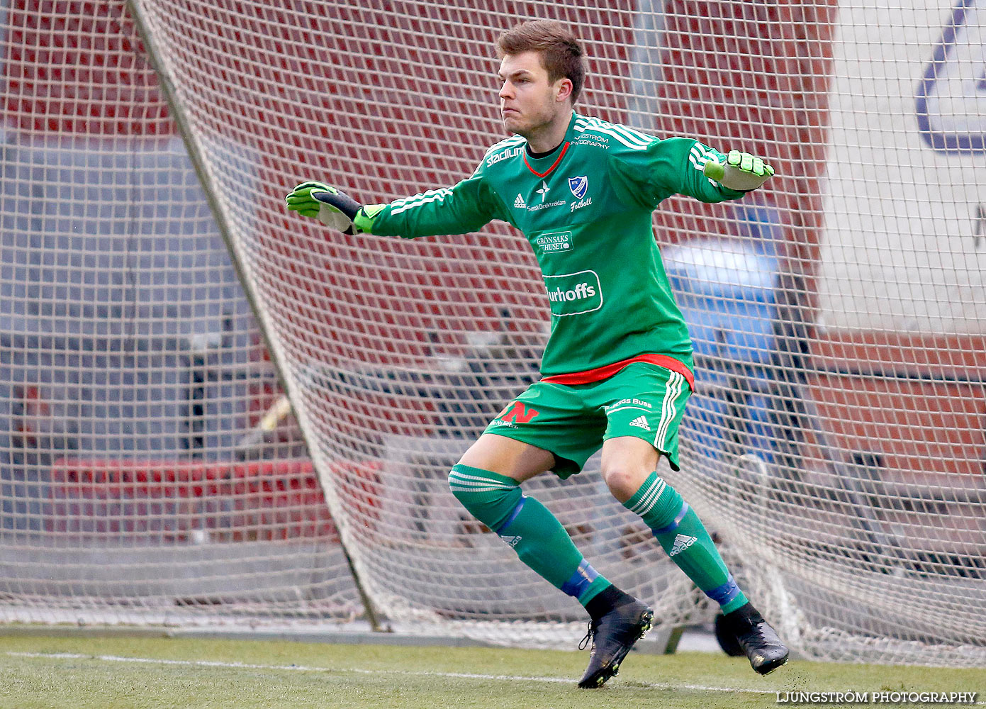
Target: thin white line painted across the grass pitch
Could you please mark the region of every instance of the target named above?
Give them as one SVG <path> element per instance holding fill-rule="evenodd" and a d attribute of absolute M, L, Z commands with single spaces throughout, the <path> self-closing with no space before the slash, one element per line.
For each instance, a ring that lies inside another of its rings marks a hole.
<path fill-rule="evenodd" d="M 350 673 L 350 674 L 402 674 L 405 676 L 450 677 L 456 679 L 501 679 L 504 681 L 548 682 L 571 684 L 571 677 L 538 677 L 522 674 L 473 674 L 411 672 L 408 670 L 364 670 L 360 668 L 312 668 L 304 665 L 250 665 L 247 663 L 224 663 L 214 660 L 161 660 L 156 658 L 125 658 L 118 655 L 83 655 L 79 653 L 17 653 L 8 652 L 9 657 L 41 658 L 55 660 L 101 660 L 107 663 L 141 663 L 147 665 L 176 665 L 182 667 L 229 668 L 236 670 L 277 670 L 296 673 Z M 646 689 L 694 689 L 714 692 L 743 692 L 745 694 L 775 694 L 773 689 L 743 689 L 741 687 L 715 687 L 704 684 L 671 684 L 669 682 L 634 682 Z"/>

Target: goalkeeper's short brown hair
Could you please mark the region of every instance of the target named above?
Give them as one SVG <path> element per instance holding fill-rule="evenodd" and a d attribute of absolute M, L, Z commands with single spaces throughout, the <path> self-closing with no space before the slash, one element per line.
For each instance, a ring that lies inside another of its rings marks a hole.
<path fill-rule="evenodd" d="M 503 35 L 496 42 L 500 56 L 540 52 L 541 65 L 548 72 L 548 81 L 566 78 L 572 82 L 572 103 L 582 93 L 586 82 L 582 45 L 579 38 L 555 20 L 529 20 Z"/>

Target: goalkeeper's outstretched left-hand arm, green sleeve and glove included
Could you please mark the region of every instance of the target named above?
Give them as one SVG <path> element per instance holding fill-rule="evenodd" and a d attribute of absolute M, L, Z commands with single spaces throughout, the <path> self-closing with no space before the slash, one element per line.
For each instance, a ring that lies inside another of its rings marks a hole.
<path fill-rule="evenodd" d="M 414 194 L 389 204 L 362 204 L 337 187 L 302 182 L 285 201 L 288 209 L 346 234 L 407 239 L 477 231 L 497 218 L 499 204 L 476 176 L 453 187 Z"/>

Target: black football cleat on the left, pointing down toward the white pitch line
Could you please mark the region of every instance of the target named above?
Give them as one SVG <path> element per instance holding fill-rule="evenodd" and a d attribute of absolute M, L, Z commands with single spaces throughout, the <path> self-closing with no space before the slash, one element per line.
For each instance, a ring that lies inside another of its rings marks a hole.
<path fill-rule="evenodd" d="M 579 650 L 583 650 L 587 643 L 592 642 L 589 667 L 579 680 L 579 686 L 596 689 L 618 673 L 623 658 L 633 644 L 651 629 L 653 620 L 654 611 L 634 599 L 631 603 L 613 608 L 599 620 L 590 621 L 589 632 L 579 644 Z"/>

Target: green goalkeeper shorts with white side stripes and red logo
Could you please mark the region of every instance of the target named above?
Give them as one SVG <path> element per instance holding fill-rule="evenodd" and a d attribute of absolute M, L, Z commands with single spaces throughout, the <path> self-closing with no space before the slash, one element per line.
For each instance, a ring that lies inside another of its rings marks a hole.
<path fill-rule="evenodd" d="M 592 384 L 534 382 L 483 433 L 551 452 L 561 478 L 579 472 L 603 441 L 620 436 L 647 441 L 677 470 L 678 426 L 689 395 L 677 372 L 638 362 Z"/>

